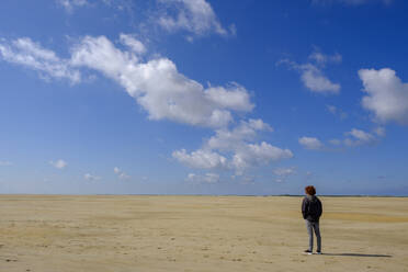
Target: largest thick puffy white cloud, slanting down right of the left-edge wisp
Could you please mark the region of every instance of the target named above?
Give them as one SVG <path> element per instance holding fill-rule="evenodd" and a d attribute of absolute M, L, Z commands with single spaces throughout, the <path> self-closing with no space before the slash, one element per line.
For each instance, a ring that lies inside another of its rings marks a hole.
<path fill-rule="evenodd" d="M 72 49 L 72 64 L 99 70 L 117 81 L 149 113 L 150 120 L 222 127 L 231 122 L 230 111 L 247 112 L 253 107 L 241 86 L 204 89 L 181 75 L 170 59 L 138 63 L 134 54 L 120 50 L 104 36 L 84 37 Z"/>

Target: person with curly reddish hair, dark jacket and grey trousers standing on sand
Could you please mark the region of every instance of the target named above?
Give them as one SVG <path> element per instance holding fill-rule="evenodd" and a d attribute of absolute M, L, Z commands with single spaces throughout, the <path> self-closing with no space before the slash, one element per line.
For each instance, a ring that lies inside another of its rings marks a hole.
<path fill-rule="evenodd" d="M 313 233 L 315 231 L 317 238 L 317 251 L 316 253 L 321 254 L 321 237 L 319 229 L 319 218 L 322 213 L 322 206 L 319 199 L 317 199 L 316 189 L 311 185 L 305 188 L 306 196 L 302 202 L 302 214 L 306 220 L 307 233 L 309 235 L 309 248 L 305 250 L 305 253 L 313 253 Z"/>

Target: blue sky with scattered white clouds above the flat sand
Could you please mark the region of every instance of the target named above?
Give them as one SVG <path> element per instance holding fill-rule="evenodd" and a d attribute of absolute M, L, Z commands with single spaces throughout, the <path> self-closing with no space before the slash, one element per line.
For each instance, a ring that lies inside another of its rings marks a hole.
<path fill-rule="evenodd" d="M 407 8 L 2 1 L 0 192 L 407 195 Z"/>

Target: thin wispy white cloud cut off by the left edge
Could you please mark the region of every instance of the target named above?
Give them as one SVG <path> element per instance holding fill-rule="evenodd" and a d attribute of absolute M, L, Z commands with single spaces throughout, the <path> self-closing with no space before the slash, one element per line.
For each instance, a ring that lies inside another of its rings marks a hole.
<path fill-rule="evenodd" d="M 0 57 L 3 60 L 36 70 L 47 79 L 68 79 L 72 83 L 81 80 L 80 72 L 72 68 L 68 60 L 57 57 L 49 49 L 43 48 L 27 37 L 11 42 L 0 39 Z"/>

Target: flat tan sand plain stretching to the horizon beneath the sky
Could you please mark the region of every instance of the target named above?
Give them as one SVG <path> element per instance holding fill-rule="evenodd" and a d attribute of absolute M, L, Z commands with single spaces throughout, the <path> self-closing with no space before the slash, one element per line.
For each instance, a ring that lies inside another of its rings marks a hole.
<path fill-rule="evenodd" d="M 0 271 L 408 271 L 408 199 L 0 195 Z"/>

